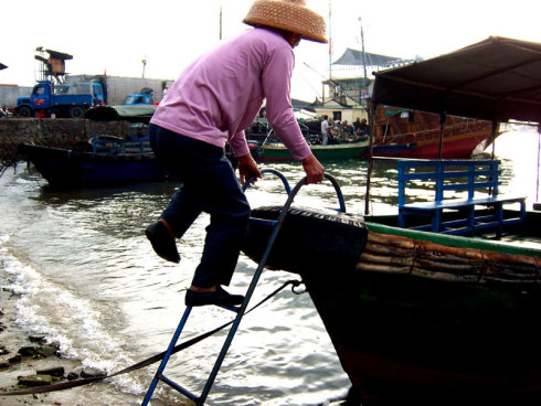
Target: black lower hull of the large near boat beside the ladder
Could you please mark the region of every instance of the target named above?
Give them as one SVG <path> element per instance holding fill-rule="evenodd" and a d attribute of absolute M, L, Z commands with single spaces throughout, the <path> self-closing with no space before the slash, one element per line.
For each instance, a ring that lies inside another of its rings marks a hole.
<path fill-rule="evenodd" d="M 412 275 L 303 279 L 364 402 L 541 399 L 539 295 Z"/>

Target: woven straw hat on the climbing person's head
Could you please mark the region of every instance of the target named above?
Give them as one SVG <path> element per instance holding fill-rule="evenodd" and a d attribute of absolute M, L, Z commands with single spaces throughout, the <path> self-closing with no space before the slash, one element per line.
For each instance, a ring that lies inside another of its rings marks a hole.
<path fill-rule="evenodd" d="M 325 19 L 305 7 L 305 0 L 256 0 L 246 18 L 246 24 L 272 26 L 300 34 L 305 40 L 328 42 Z"/>

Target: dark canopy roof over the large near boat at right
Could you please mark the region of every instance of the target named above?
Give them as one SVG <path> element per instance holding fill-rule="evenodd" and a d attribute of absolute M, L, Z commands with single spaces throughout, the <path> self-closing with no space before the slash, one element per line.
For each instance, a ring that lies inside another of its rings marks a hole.
<path fill-rule="evenodd" d="M 541 122 L 541 43 L 490 36 L 374 75 L 376 105 L 499 122 Z"/>

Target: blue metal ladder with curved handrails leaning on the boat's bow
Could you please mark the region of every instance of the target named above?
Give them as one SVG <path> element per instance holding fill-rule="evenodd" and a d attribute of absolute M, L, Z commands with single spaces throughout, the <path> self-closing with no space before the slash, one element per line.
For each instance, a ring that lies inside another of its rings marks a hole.
<path fill-rule="evenodd" d="M 209 375 L 209 378 L 206 380 L 206 383 L 203 387 L 203 391 L 201 392 L 201 395 L 195 395 L 193 394 L 192 392 L 188 391 L 187 388 L 184 388 L 183 386 L 177 384 L 176 382 L 173 382 L 172 380 L 168 378 L 165 374 L 163 374 L 163 371 L 166 368 L 166 365 L 169 361 L 169 357 L 171 356 L 172 354 L 172 351 L 177 344 L 177 342 L 179 341 L 179 338 L 180 338 L 180 334 L 182 332 L 182 330 L 184 329 L 184 325 L 188 321 L 188 318 L 190 317 L 190 312 L 192 310 L 192 307 L 189 306 L 185 308 L 184 310 L 184 313 L 180 320 L 180 323 L 179 323 L 179 327 L 177 328 L 177 330 L 174 331 L 174 334 L 171 339 L 171 342 L 166 351 L 166 354 L 163 355 L 163 359 L 158 367 L 158 371 L 156 372 L 156 375 L 152 380 L 152 382 L 150 383 L 150 386 L 147 391 L 147 394 L 145 396 L 145 399 L 142 400 L 141 403 L 141 406 L 147 406 L 148 403 L 150 402 L 150 398 L 152 397 L 152 394 L 156 389 L 156 386 L 158 385 L 158 382 L 161 381 L 163 382 L 165 384 L 171 386 L 172 388 L 174 388 L 177 392 L 180 392 L 182 395 L 184 395 L 185 397 L 188 397 L 190 400 L 194 402 L 195 405 L 198 406 L 201 406 L 201 405 L 204 405 L 204 402 L 206 400 L 206 397 L 212 388 L 212 385 L 214 384 L 214 381 L 216 378 L 216 375 L 218 373 L 220 372 L 220 367 L 222 366 L 222 363 L 223 363 L 223 360 L 225 359 L 225 355 L 231 346 L 231 343 L 233 341 L 233 338 L 238 329 L 238 325 L 241 323 L 241 320 L 246 311 L 246 308 L 248 306 L 248 302 L 250 302 L 250 299 L 252 298 L 252 295 L 254 293 L 254 290 L 255 290 L 255 287 L 257 286 L 257 282 L 259 281 L 259 277 L 263 273 L 263 268 L 265 267 L 266 265 L 266 261 L 268 259 L 268 256 L 270 255 L 270 250 L 273 248 L 273 245 L 276 241 L 276 237 L 278 235 L 278 232 L 280 231 L 282 228 L 282 225 L 284 223 L 284 220 L 286 217 L 286 214 L 287 212 L 289 211 L 289 207 L 291 206 L 291 203 L 293 203 L 293 200 L 295 197 L 295 195 L 298 193 L 298 191 L 300 190 L 300 188 L 303 185 L 306 184 L 306 180 L 307 178 L 305 177 L 304 179 L 301 179 L 297 185 L 294 188 L 294 190 L 291 191 L 290 188 L 289 188 L 289 183 L 287 182 L 286 178 L 278 171 L 275 171 L 273 169 L 266 169 L 266 170 L 263 170 L 262 171 L 262 174 L 264 173 L 273 173 L 275 175 L 277 175 L 282 182 L 284 183 L 284 188 L 286 189 L 286 192 L 288 194 L 288 199 L 286 201 L 286 203 L 284 204 L 282 211 L 280 211 L 280 214 L 278 216 L 278 218 L 276 221 L 267 221 L 267 220 L 263 220 L 263 218 L 251 218 L 251 221 L 255 221 L 255 222 L 259 222 L 259 223 L 264 223 L 264 224 L 267 224 L 269 226 L 273 226 L 274 229 L 273 229 L 273 233 L 270 234 L 270 237 L 267 242 L 267 245 L 266 245 L 266 248 L 265 248 L 265 252 L 263 253 L 263 256 L 259 260 L 259 264 L 257 266 L 257 269 L 255 270 L 254 273 L 254 276 L 252 277 L 252 281 L 248 286 L 248 289 L 246 291 L 246 295 L 244 297 L 244 301 L 242 302 L 241 306 L 238 307 L 226 307 L 226 306 L 221 306 L 222 308 L 224 309 L 227 309 L 227 310 L 231 310 L 233 312 L 236 312 L 236 317 L 235 317 L 235 320 L 233 322 L 233 324 L 231 325 L 230 328 L 230 331 L 227 333 L 227 336 L 225 339 L 225 342 L 224 344 L 222 345 L 222 349 L 220 351 L 220 354 L 218 355 L 218 359 L 214 363 L 214 366 Z M 330 180 L 330 182 L 332 183 L 332 185 L 335 186 L 335 191 L 337 193 L 337 196 L 338 196 L 338 201 L 339 201 L 339 204 L 340 204 L 340 209 L 339 211 L 340 212 L 343 212 L 346 213 L 346 203 L 344 203 L 344 200 L 343 200 L 343 196 L 342 196 L 342 193 L 340 191 L 340 186 L 338 185 L 338 182 L 335 180 L 335 178 L 332 178 L 331 175 L 329 174 L 325 174 L 325 178 L 327 178 L 328 180 Z M 250 179 L 246 184 L 243 186 L 243 190 L 245 191 L 253 182 L 255 181 L 255 177 Z"/>

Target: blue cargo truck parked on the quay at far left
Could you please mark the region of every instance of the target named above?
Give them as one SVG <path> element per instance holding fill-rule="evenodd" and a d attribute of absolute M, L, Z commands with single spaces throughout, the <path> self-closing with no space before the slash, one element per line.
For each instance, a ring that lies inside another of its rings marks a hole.
<path fill-rule="evenodd" d="M 15 110 L 22 117 L 82 118 L 88 108 L 106 103 L 106 92 L 99 82 L 53 84 L 41 81 L 30 96 L 17 99 Z"/>

